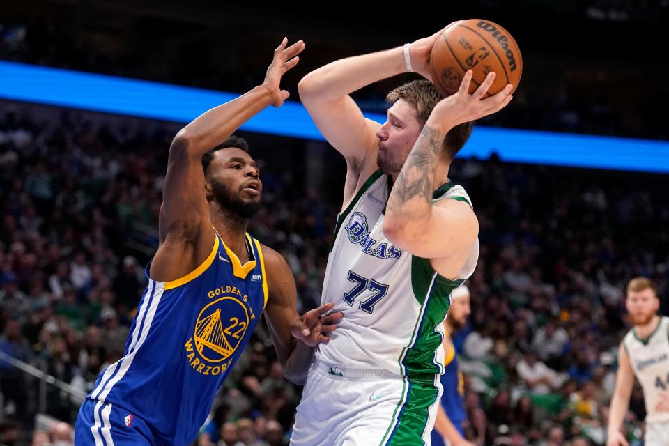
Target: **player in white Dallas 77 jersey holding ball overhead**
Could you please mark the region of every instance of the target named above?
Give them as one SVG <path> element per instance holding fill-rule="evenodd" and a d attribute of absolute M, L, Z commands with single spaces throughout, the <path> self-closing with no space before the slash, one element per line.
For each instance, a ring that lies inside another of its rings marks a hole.
<path fill-rule="evenodd" d="M 441 98 L 429 80 L 400 86 L 381 125 L 350 93 L 413 71 L 430 79 L 439 33 L 405 47 L 342 59 L 309 73 L 300 98 L 346 158 L 322 302 L 344 319 L 316 360 L 295 416 L 293 445 L 422 445 L 430 441 L 443 372 L 449 295 L 472 273 L 478 222 L 449 166 L 470 121 L 509 103 L 511 86 L 483 99 L 471 72 Z"/>

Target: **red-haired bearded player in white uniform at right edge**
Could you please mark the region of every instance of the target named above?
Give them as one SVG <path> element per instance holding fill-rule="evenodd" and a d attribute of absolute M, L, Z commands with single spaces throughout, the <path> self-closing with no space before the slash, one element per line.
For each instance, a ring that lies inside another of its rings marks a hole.
<path fill-rule="evenodd" d="M 627 312 L 634 324 L 618 349 L 615 393 L 608 415 L 607 446 L 628 446 L 620 431 L 629 406 L 634 377 L 646 404 L 645 446 L 669 445 L 669 318 L 659 316 L 660 300 L 645 277 L 627 285 Z"/>

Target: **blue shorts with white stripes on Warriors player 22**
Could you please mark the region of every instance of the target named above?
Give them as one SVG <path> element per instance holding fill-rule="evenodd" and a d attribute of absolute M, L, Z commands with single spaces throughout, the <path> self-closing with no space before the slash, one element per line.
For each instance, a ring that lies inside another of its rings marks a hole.
<path fill-rule="evenodd" d="M 141 417 L 123 408 L 85 399 L 75 423 L 77 446 L 162 446 Z"/>

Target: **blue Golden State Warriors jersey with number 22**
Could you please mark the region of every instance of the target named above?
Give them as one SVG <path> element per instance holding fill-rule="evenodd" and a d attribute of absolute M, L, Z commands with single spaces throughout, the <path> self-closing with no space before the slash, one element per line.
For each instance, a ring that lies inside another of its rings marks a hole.
<path fill-rule="evenodd" d="M 98 401 L 96 422 L 111 404 L 164 443 L 185 445 L 197 436 L 267 302 L 260 244 L 246 238 L 252 259 L 243 266 L 218 235 L 206 261 L 185 277 L 156 282 L 149 263 L 123 357 L 89 395 Z"/>

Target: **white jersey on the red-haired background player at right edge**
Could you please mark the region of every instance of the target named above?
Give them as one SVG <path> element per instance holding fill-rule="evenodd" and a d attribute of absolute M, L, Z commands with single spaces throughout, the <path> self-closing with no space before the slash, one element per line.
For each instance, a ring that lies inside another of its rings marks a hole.
<path fill-rule="evenodd" d="M 629 330 L 623 345 L 636 378 L 643 387 L 646 422 L 668 422 L 668 412 L 658 412 L 659 391 L 669 391 L 669 318 L 661 317 L 655 331 L 642 341 Z"/>

